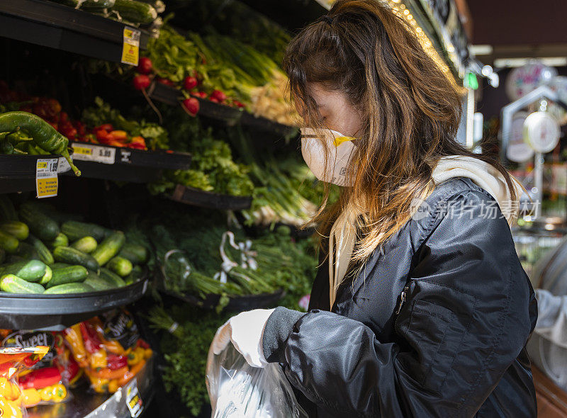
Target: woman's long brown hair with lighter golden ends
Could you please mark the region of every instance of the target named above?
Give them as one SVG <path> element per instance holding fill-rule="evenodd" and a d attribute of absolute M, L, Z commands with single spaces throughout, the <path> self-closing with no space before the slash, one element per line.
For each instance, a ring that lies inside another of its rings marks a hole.
<path fill-rule="evenodd" d="M 412 200 L 432 191 L 432 169 L 441 157 L 488 162 L 514 193 L 498 161 L 456 142 L 461 119 L 456 83 L 427 55 L 408 23 L 379 1 L 337 0 L 326 16 L 293 38 L 283 68 L 309 125 L 322 128 L 310 84 L 341 91 L 361 114 L 349 167 L 354 184 L 330 208 L 325 199 L 315 216 L 326 235 L 347 203 L 357 208 L 355 261 L 366 259 L 410 219 Z"/>

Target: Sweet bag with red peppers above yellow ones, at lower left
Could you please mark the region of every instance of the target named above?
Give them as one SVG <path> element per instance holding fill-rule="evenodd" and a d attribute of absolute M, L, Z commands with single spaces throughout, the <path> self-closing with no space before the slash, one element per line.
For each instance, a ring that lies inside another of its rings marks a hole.
<path fill-rule="evenodd" d="M 64 344 L 62 332 L 6 330 L 2 347 L 47 346 L 48 351 L 32 368 L 18 375 L 23 390 L 26 407 L 52 405 L 71 399 L 69 383 L 74 383 L 80 375 L 79 365 L 71 357 Z"/>

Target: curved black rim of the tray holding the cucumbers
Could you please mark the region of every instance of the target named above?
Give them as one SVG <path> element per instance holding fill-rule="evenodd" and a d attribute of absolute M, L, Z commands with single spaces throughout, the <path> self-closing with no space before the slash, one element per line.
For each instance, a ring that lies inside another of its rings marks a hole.
<path fill-rule="evenodd" d="M 31 295 L 0 292 L 0 328 L 58 331 L 142 298 L 147 279 L 90 293 Z"/>

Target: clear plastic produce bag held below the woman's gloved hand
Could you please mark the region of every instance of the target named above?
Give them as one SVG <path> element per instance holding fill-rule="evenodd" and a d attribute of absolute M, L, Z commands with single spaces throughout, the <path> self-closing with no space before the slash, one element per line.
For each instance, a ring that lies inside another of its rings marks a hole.
<path fill-rule="evenodd" d="M 211 418 L 308 418 L 278 363 L 249 366 L 232 344 L 209 350 L 206 382 Z"/>

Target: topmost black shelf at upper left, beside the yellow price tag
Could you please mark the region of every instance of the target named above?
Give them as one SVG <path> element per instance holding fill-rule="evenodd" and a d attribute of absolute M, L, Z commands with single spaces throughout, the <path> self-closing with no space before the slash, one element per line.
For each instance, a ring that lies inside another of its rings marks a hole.
<path fill-rule="evenodd" d="M 0 36 L 120 62 L 124 23 L 45 0 L 0 1 Z M 140 30 L 140 49 L 149 33 Z"/>

